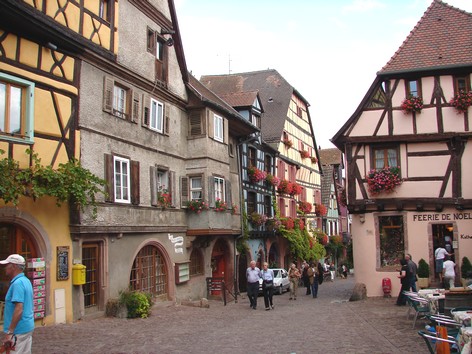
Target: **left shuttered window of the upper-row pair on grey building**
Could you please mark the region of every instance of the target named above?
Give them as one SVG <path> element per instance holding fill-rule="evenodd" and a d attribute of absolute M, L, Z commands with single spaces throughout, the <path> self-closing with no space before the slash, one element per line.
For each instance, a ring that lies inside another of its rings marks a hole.
<path fill-rule="evenodd" d="M 140 95 L 125 84 L 105 76 L 103 110 L 121 119 L 137 123 L 140 115 Z"/>

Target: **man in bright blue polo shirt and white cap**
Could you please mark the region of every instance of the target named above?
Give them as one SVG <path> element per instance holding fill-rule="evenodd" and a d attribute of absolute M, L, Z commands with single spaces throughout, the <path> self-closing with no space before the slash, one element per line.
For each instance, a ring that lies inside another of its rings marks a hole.
<path fill-rule="evenodd" d="M 15 353 L 31 353 L 34 331 L 33 287 L 23 273 L 25 259 L 19 254 L 11 254 L 0 264 L 5 265 L 5 274 L 10 279 L 5 297 L 3 345 L 6 347 L 16 342 Z"/>

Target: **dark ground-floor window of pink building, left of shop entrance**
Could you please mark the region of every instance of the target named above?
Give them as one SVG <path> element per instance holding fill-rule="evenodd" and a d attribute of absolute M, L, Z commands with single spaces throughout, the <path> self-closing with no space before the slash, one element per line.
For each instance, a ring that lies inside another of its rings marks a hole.
<path fill-rule="evenodd" d="M 398 267 L 405 253 L 403 217 L 401 215 L 379 216 L 380 267 Z"/>

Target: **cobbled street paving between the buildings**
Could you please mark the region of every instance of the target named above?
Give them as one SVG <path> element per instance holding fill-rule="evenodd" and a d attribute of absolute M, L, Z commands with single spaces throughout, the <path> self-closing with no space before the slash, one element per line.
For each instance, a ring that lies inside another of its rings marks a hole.
<path fill-rule="evenodd" d="M 354 280 L 320 285 L 317 299 L 299 289 L 257 310 L 245 296 L 210 308 L 160 304 L 148 319 L 96 318 L 37 328 L 33 353 L 427 353 L 395 298 L 348 302 Z M 379 285 L 380 286 L 380 285 Z"/>

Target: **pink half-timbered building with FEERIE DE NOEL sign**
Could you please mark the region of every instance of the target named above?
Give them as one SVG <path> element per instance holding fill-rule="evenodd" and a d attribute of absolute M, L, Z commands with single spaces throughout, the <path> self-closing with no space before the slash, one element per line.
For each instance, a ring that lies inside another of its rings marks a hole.
<path fill-rule="evenodd" d="M 347 164 L 355 276 L 382 294 L 406 253 L 472 256 L 472 15 L 434 0 L 333 137 Z"/>

